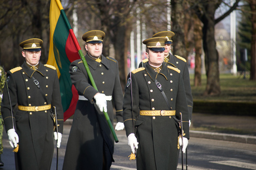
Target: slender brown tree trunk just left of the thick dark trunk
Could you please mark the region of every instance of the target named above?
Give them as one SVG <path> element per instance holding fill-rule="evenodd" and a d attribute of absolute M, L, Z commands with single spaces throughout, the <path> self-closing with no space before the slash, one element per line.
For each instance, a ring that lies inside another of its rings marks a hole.
<path fill-rule="evenodd" d="M 201 55 L 202 55 L 202 24 L 194 15 L 194 40 L 195 40 L 195 78 L 194 86 L 201 86 Z"/>

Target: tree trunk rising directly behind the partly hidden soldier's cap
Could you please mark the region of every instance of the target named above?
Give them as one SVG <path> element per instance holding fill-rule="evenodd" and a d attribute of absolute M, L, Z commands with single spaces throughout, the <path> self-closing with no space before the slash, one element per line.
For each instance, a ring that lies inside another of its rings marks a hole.
<path fill-rule="evenodd" d="M 175 33 L 173 37 L 173 53 L 175 55 L 180 55 L 183 58 L 187 59 L 186 48 L 185 48 L 185 39 L 184 39 L 184 9 L 182 0 L 172 0 L 171 1 L 171 20 L 172 31 Z"/>

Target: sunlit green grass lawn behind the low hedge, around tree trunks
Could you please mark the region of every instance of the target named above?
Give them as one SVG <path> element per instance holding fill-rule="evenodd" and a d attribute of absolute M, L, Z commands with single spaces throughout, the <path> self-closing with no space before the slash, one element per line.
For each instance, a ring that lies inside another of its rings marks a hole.
<path fill-rule="evenodd" d="M 249 76 L 234 76 L 232 74 L 220 74 L 219 96 L 203 96 L 206 87 L 206 75 L 201 76 L 201 86 L 194 86 L 194 74 L 190 74 L 191 91 L 194 101 L 232 101 L 232 102 L 255 102 L 256 81 L 249 80 Z"/>

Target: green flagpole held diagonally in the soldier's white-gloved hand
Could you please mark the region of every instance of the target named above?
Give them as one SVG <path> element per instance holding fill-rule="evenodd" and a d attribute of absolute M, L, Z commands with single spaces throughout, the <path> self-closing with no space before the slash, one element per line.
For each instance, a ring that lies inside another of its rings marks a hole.
<path fill-rule="evenodd" d="M 62 11 L 63 7 L 62 7 L 62 5 L 61 5 L 60 0 L 56 0 L 56 3 L 57 3 L 57 5 L 58 5 L 58 8 L 60 8 L 61 15 L 63 16 L 67 27 L 68 27 L 68 28 L 71 28 L 71 25 L 70 25 L 70 23 L 69 23 L 68 20 L 67 20 L 66 13 L 65 13 L 64 11 Z M 90 81 L 91 81 L 91 84 L 92 84 L 92 86 L 94 87 L 94 89 L 98 91 L 97 86 L 96 86 L 96 84 L 95 84 L 95 81 L 94 81 L 93 78 L 92 78 L 92 74 L 91 74 L 91 71 L 90 71 L 89 66 L 88 66 L 88 64 L 87 64 L 87 61 L 86 61 L 86 59 L 85 59 L 85 56 L 83 56 L 82 50 L 81 50 L 81 48 L 80 48 L 80 45 L 79 45 L 78 42 L 77 42 L 76 36 L 75 36 L 75 34 L 74 34 L 74 32 L 73 32 L 72 29 L 69 29 L 68 31 L 70 32 L 71 38 L 72 38 L 73 42 L 74 42 L 75 45 L 76 45 L 76 49 L 78 50 L 78 54 L 80 55 L 80 58 L 81 58 L 82 61 L 83 61 L 83 65 L 85 65 L 85 69 L 86 69 L 86 71 L 87 71 L 87 74 L 88 74 L 88 77 L 89 77 L 89 79 L 90 79 Z M 112 135 L 113 135 L 113 137 L 114 137 L 114 140 L 115 140 L 115 142 L 117 143 L 117 142 L 119 142 L 119 140 L 118 140 L 118 138 L 117 138 L 117 136 L 116 136 L 116 132 L 115 132 L 113 126 L 112 126 L 112 123 L 111 123 L 111 121 L 110 121 L 109 115 L 107 114 L 107 112 L 105 112 L 105 111 L 103 111 L 103 112 L 104 112 L 104 115 L 105 115 L 105 117 L 106 117 L 107 124 L 109 125 L 110 130 L 111 130 L 111 132 L 112 132 Z"/>

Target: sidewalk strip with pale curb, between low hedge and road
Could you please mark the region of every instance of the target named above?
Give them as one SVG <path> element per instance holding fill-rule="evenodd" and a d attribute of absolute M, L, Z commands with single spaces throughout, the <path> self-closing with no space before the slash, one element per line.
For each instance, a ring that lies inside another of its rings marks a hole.
<path fill-rule="evenodd" d="M 190 137 L 256 145 L 256 116 L 193 113 Z"/>

